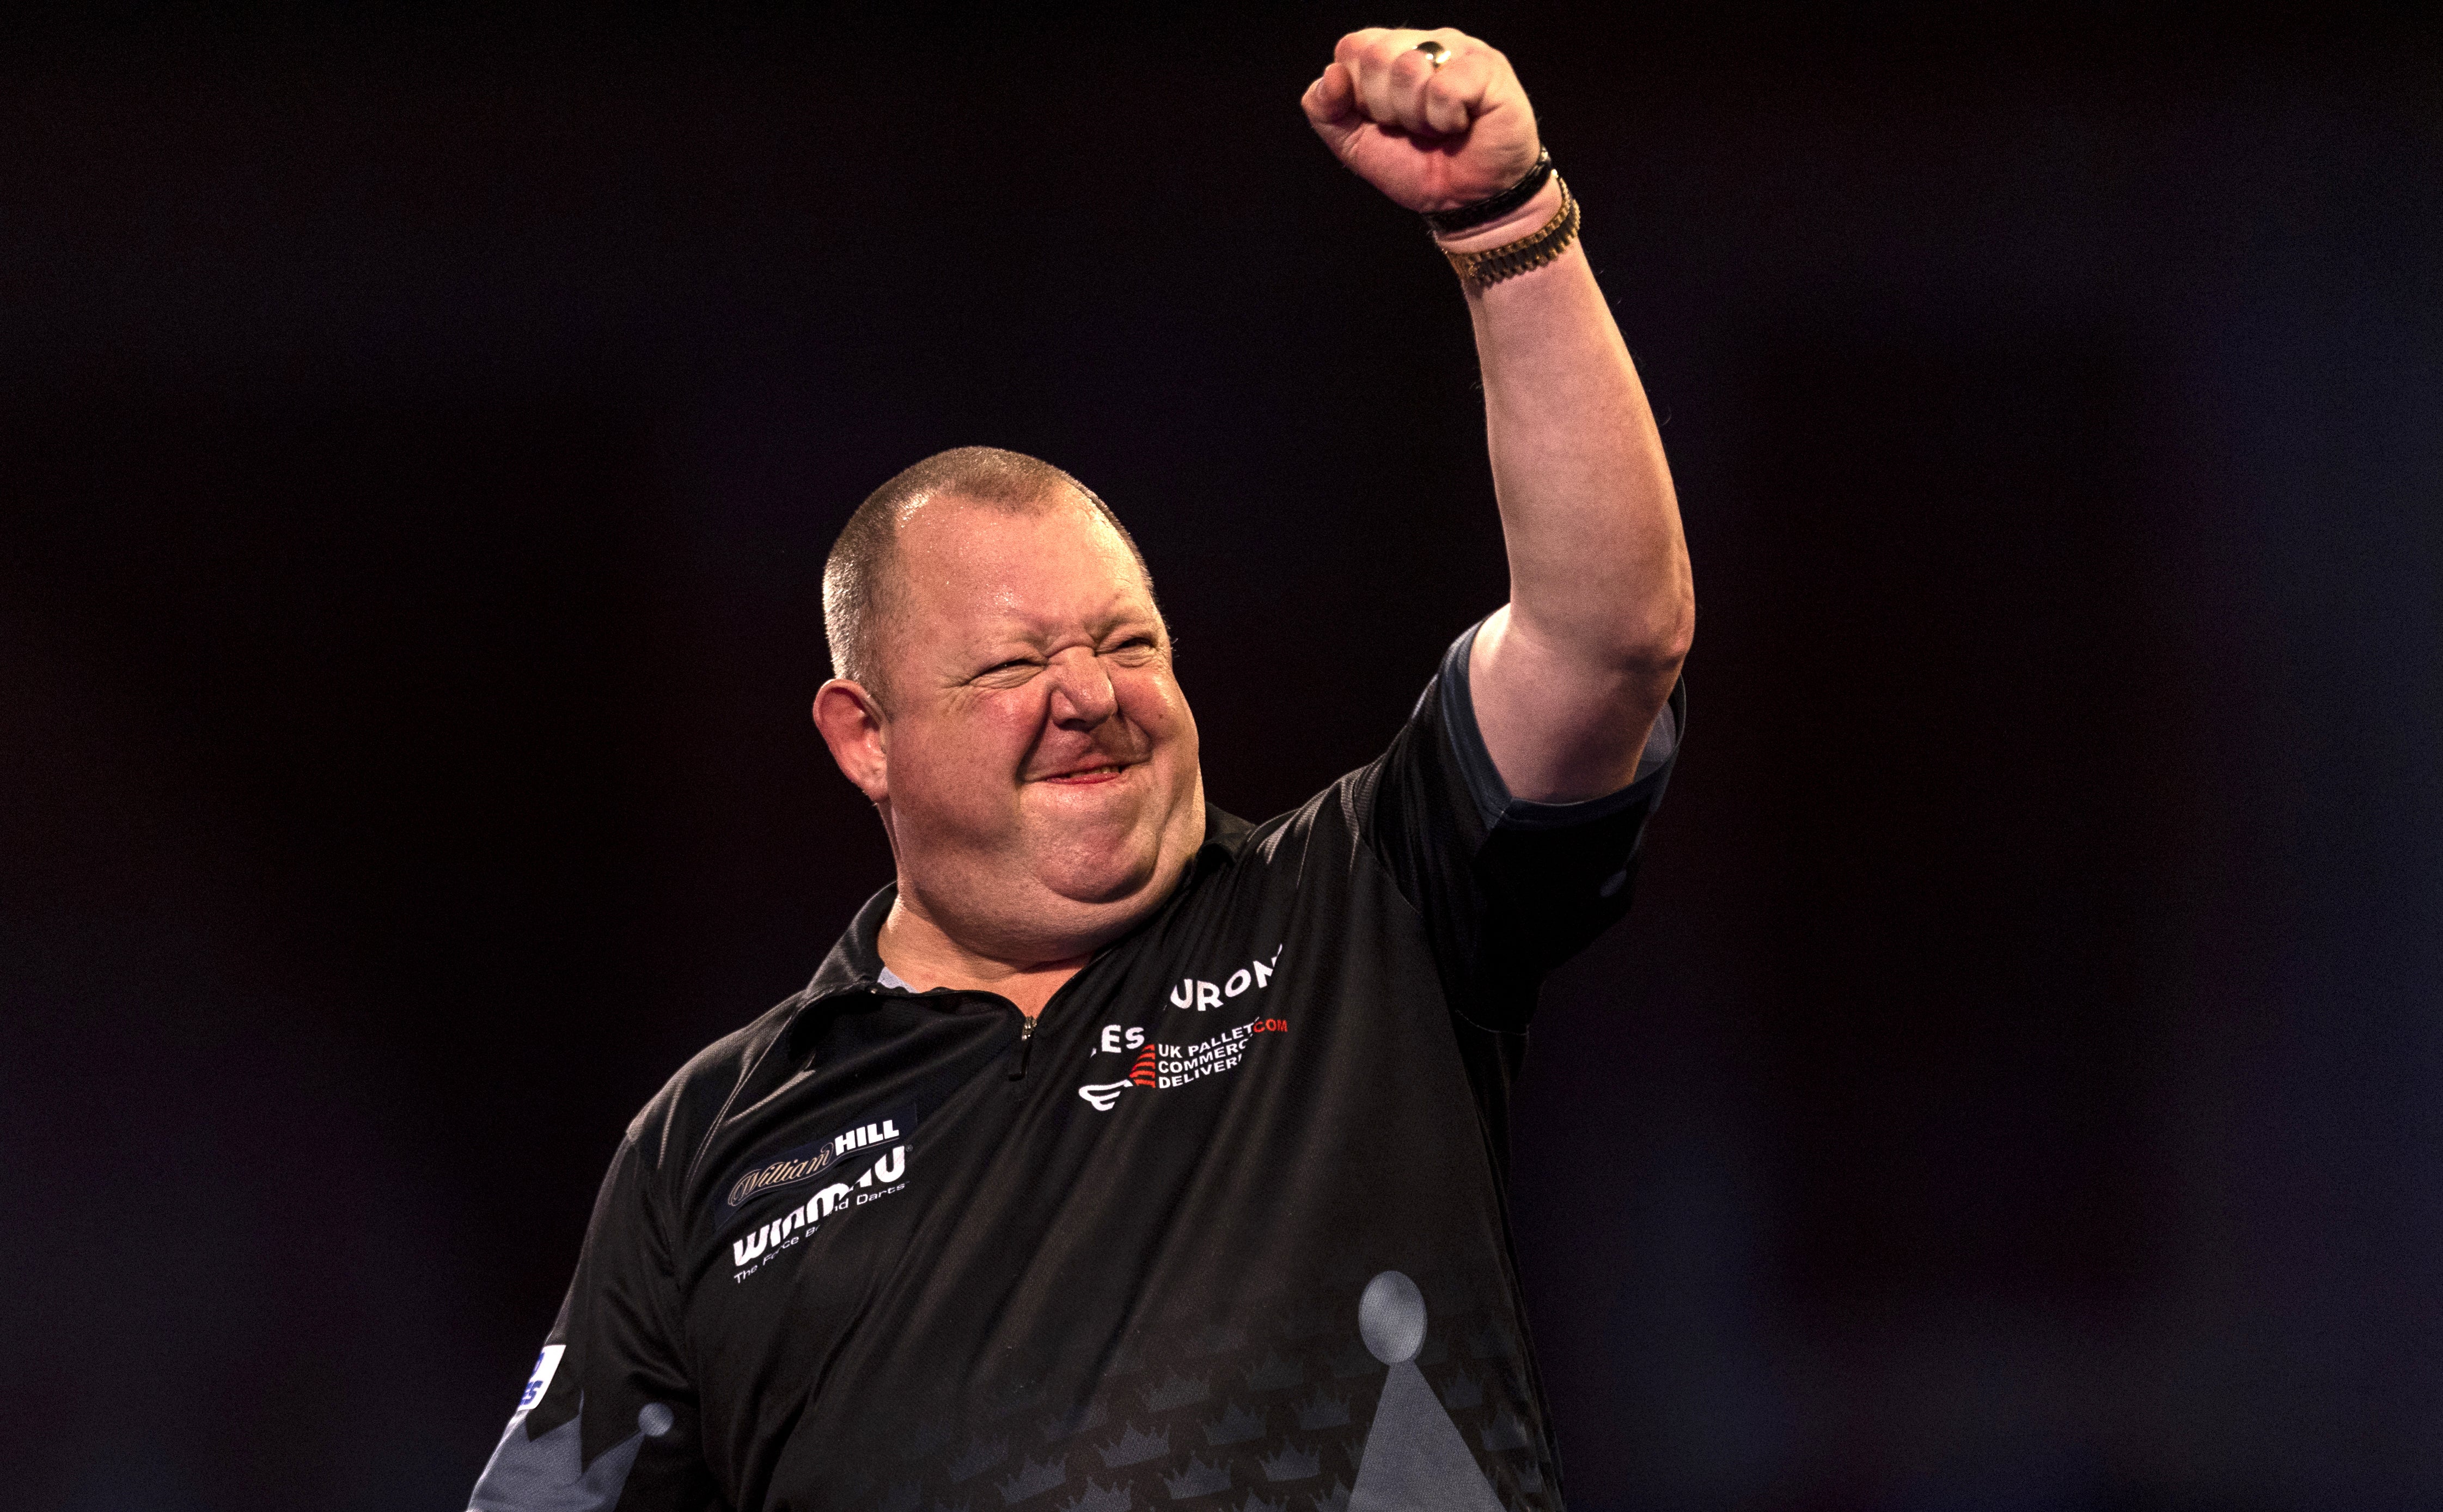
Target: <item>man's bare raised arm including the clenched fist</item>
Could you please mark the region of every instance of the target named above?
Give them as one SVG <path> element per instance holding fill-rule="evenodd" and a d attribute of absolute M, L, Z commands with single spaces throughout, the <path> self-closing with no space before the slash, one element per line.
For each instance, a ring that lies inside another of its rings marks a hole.
<path fill-rule="evenodd" d="M 1539 151 L 1510 59 L 1451 29 L 1341 37 L 1305 107 L 1344 164 L 1417 213 L 1498 195 Z M 1561 193 L 1554 178 L 1441 244 L 1529 237 Z M 1461 286 L 1510 547 L 1510 603 L 1468 662 L 1476 723 L 1512 796 L 1593 799 L 1637 774 L 1695 630 L 1671 469 L 1583 242 L 1534 271 Z"/>

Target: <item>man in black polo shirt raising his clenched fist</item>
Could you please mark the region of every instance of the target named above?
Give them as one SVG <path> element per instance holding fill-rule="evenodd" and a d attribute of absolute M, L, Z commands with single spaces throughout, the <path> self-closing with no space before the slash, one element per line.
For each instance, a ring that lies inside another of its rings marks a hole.
<path fill-rule="evenodd" d="M 1356 32 L 1305 110 L 1461 271 L 1510 603 L 1251 828 L 1099 498 L 989 449 L 884 484 L 814 721 L 897 882 L 628 1129 L 476 1507 L 1559 1507 L 1507 1097 L 1627 909 L 1686 550 L 1502 54 Z"/>

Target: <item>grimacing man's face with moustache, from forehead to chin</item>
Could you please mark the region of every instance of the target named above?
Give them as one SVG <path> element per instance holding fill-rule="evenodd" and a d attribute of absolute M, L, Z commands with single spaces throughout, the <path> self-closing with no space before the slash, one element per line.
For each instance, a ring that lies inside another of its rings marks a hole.
<path fill-rule="evenodd" d="M 1204 840 L 1197 721 L 1136 557 L 1082 501 L 933 501 L 897 572 L 879 801 L 901 896 L 1011 958 L 1124 933 Z"/>

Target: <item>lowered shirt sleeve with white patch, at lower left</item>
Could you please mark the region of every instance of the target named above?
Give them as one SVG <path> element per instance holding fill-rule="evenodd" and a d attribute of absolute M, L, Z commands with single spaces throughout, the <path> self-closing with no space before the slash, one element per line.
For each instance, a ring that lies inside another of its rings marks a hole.
<path fill-rule="evenodd" d="M 577 1278 L 469 1512 L 694 1512 L 718 1507 L 696 1392 L 677 1348 L 677 1285 L 652 1170 L 621 1143 L 594 1197 Z"/>

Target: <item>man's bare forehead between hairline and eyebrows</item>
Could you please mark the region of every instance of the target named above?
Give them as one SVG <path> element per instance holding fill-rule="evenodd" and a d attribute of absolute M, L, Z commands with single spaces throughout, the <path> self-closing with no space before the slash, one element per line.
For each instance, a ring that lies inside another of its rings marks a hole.
<path fill-rule="evenodd" d="M 1082 498 L 1002 511 L 933 498 L 899 525 L 901 633 L 1024 635 L 1153 613 L 1129 542 Z"/>

